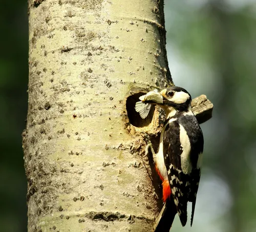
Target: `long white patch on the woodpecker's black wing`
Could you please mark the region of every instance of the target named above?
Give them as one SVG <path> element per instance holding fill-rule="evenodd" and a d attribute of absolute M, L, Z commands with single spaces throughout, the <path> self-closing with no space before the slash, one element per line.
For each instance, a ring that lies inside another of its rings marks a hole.
<path fill-rule="evenodd" d="M 180 144 L 182 147 L 181 153 L 181 169 L 185 174 L 190 174 L 192 171 L 192 164 L 190 162 L 190 142 L 187 136 L 187 132 L 182 125 L 180 125 Z"/>

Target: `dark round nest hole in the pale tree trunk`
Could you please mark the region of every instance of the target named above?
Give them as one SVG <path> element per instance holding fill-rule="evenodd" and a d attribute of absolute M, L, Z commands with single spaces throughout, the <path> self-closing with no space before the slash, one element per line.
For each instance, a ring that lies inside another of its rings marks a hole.
<path fill-rule="evenodd" d="M 145 95 L 145 92 L 138 92 L 137 94 L 131 95 L 126 99 L 126 110 L 129 118 L 129 122 L 135 127 L 148 126 L 153 119 L 155 106 L 153 106 L 145 119 L 140 117 L 140 114 L 135 110 L 136 102 L 140 101 L 139 97 Z"/>

